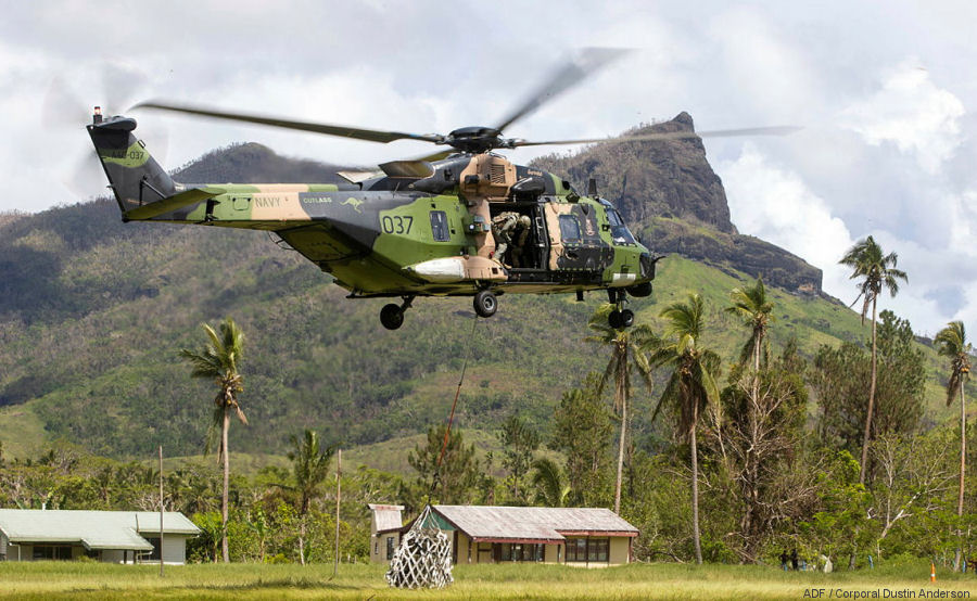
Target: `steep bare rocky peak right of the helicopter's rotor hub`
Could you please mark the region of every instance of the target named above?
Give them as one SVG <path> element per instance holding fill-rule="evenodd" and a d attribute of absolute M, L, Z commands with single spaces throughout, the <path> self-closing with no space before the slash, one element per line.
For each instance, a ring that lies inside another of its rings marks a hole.
<path fill-rule="evenodd" d="M 688 113 L 625 135 L 675 131 L 695 131 Z M 762 274 L 765 282 L 799 294 L 821 293 L 820 269 L 736 231 L 722 181 L 706 159 L 706 146 L 698 137 L 596 144 L 571 156 L 544 156 L 533 164 L 568 176 L 580 190 L 586 190 L 588 179 L 595 178 L 600 194 L 616 204 L 634 233 L 658 253 L 677 254 L 754 278 Z"/>

